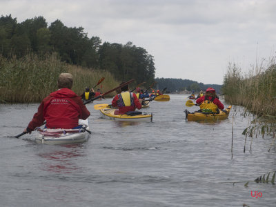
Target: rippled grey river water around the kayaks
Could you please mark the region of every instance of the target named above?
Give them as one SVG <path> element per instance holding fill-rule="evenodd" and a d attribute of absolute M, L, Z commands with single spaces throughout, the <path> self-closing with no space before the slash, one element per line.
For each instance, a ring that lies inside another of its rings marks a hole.
<path fill-rule="evenodd" d="M 143 111 L 153 121 L 136 124 L 101 119 L 93 105 L 111 99 L 88 103 L 92 135 L 68 146 L 14 138 L 39 103 L 0 105 L 0 206 L 275 206 L 275 185 L 253 181 L 275 171 L 273 138 L 254 137 L 251 152 L 248 138 L 244 152 L 253 119 L 244 108 L 217 123 L 185 121 L 198 109 L 187 96 L 152 101 Z"/>

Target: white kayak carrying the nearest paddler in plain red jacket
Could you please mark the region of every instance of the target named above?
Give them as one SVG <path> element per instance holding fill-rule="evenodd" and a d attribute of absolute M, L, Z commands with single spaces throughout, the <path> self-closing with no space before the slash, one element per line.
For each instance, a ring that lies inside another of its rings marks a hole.
<path fill-rule="evenodd" d="M 79 125 L 83 128 L 79 129 L 50 129 L 45 128 L 40 130 L 35 137 L 37 144 L 75 144 L 87 141 L 89 138 L 89 123 L 88 119 L 79 119 Z"/>

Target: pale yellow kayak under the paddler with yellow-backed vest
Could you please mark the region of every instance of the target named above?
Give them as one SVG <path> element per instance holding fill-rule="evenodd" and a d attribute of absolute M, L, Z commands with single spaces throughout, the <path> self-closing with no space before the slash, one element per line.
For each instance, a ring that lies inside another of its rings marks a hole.
<path fill-rule="evenodd" d="M 103 119 L 110 119 L 116 121 L 144 121 L 150 122 L 152 121 L 152 114 L 141 114 L 141 115 L 115 115 L 116 108 L 106 107 L 99 110 L 101 117 Z"/>

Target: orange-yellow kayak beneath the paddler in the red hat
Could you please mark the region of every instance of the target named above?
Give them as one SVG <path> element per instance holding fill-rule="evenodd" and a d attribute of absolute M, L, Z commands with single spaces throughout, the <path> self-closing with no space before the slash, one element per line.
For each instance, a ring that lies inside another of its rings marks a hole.
<path fill-rule="evenodd" d="M 225 110 L 219 110 L 219 113 L 205 113 L 200 111 L 189 112 L 185 110 L 187 121 L 217 121 L 228 118 L 232 106 L 228 106 Z"/>

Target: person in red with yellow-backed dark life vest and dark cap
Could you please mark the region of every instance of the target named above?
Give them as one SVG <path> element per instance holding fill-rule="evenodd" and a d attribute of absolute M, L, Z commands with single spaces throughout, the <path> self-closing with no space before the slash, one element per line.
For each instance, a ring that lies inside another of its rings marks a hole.
<path fill-rule="evenodd" d="M 125 82 L 122 82 L 123 84 Z M 115 115 L 124 115 L 126 112 L 135 111 L 135 109 L 141 108 L 141 99 L 137 99 L 137 96 L 134 92 L 128 91 L 128 85 L 121 88 L 121 93 L 115 95 L 112 100 L 112 106 L 117 107 L 115 110 Z"/>

